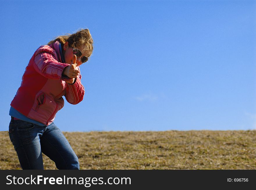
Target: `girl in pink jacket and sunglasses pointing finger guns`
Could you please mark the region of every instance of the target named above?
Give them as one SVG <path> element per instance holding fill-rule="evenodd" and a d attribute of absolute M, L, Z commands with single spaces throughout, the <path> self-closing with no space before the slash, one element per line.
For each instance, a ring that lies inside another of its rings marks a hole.
<path fill-rule="evenodd" d="M 58 169 L 79 169 L 77 155 L 53 123 L 57 111 L 83 100 L 79 66 L 93 52 L 88 29 L 59 36 L 40 46 L 29 61 L 9 115 L 9 136 L 22 169 L 44 169 L 42 153 Z"/>

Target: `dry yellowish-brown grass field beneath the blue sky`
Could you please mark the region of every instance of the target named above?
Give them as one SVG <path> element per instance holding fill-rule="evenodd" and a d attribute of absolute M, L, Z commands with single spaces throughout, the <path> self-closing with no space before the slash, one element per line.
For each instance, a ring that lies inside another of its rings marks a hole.
<path fill-rule="evenodd" d="M 81 169 L 256 169 L 255 130 L 63 133 Z M 21 169 L 7 131 L 0 145 L 0 169 Z"/>

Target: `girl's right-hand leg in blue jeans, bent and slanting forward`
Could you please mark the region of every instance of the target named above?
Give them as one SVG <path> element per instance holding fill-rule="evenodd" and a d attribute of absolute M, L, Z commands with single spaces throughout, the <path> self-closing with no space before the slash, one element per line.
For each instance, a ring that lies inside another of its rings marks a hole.
<path fill-rule="evenodd" d="M 42 152 L 55 162 L 58 169 L 80 169 L 77 155 L 54 123 L 47 127 L 40 143 Z"/>

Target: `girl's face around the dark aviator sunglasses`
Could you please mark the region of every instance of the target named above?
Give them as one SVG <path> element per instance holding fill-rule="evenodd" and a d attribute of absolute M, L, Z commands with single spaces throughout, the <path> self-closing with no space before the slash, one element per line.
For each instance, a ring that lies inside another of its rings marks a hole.
<path fill-rule="evenodd" d="M 64 49 L 64 59 L 65 59 L 65 62 L 67 63 L 67 64 L 72 64 L 72 61 L 73 61 L 73 53 L 72 53 L 72 50 L 73 50 L 73 48 L 72 47 L 70 47 L 69 45 L 68 45 L 68 42 L 66 42 L 64 45 L 63 45 L 63 49 Z M 78 47 L 78 49 L 82 52 L 82 56 L 86 56 L 86 57 L 88 57 L 89 56 L 89 52 L 87 51 L 87 50 L 83 50 L 84 49 L 84 47 L 83 46 L 79 46 Z M 83 50 L 83 51 L 82 51 Z M 82 57 L 81 56 L 81 57 Z M 82 62 L 81 62 L 81 57 L 77 57 L 77 66 L 80 66 L 81 64 L 83 64 Z"/>

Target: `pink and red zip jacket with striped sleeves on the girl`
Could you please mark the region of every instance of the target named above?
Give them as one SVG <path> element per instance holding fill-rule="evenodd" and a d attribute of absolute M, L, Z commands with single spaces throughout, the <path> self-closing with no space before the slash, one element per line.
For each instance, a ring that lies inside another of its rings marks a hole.
<path fill-rule="evenodd" d="M 57 111 L 64 106 L 65 96 L 70 104 L 83 100 L 84 87 L 81 74 L 74 84 L 62 76 L 69 64 L 61 62 L 59 41 L 49 46 L 40 46 L 29 61 L 11 106 L 17 111 L 45 125 L 54 121 Z M 79 68 L 79 67 L 78 67 Z"/>

